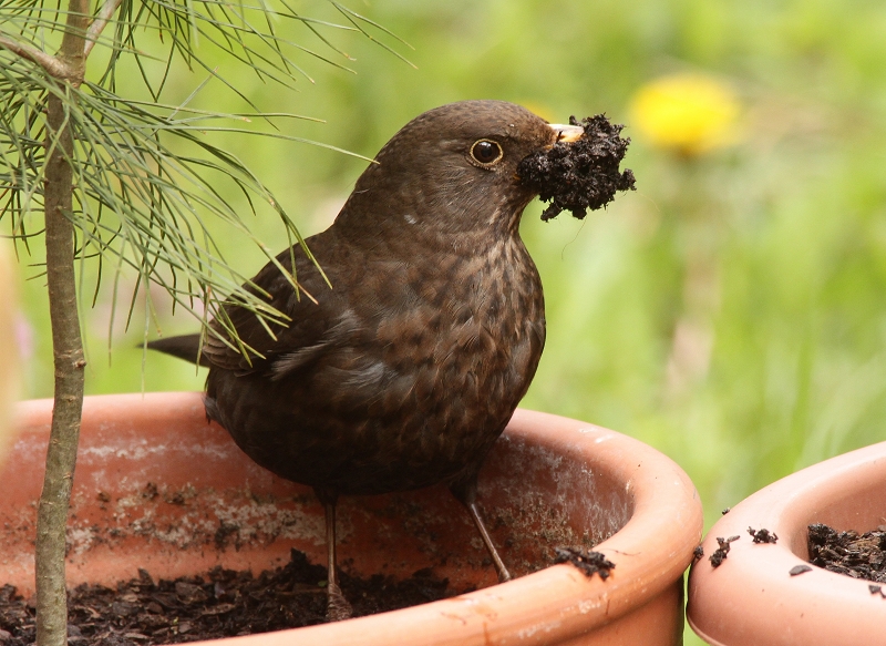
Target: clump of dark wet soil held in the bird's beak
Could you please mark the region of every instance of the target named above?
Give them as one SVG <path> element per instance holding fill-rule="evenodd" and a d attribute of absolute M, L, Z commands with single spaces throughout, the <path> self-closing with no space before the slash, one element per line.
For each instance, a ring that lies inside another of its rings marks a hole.
<path fill-rule="evenodd" d="M 588 208 L 615 199 L 616 192 L 635 189 L 633 173 L 618 170 L 630 144 L 630 139 L 619 136 L 624 126 L 602 114 L 580 122 L 570 116 L 569 124 L 585 129 L 581 139 L 537 151 L 517 166 L 521 182 L 537 191 L 542 202 L 550 202 L 542 214 L 545 222 L 563 211 L 583 219 Z"/>

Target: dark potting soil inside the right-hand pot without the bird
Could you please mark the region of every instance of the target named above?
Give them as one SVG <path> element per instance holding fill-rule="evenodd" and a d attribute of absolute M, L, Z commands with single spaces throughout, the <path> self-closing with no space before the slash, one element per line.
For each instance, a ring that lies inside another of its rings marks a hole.
<path fill-rule="evenodd" d="M 886 584 L 886 525 L 872 532 L 837 532 L 822 523 L 810 525 L 810 563 L 853 578 Z M 870 586 L 872 593 L 880 592 Z"/>

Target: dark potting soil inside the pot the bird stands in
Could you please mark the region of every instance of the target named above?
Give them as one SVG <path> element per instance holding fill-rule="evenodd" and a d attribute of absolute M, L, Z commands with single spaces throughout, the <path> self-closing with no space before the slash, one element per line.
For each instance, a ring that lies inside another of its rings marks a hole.
<path fill-rule="evenodd" d="M 326 567 L 292 550 L 290 562 L 258 576 L 216 567 L 202 576 L 157 581 L 144 570 L 115 588 L 80 585 L 69 595 L 72 646 L 177 644 L 297 628 L 326 622 Z M 424 604 L 470 589 L 420 570 L 410 578 L 356 578 L 341 572 L 354 616 Z M 0 587 L 0 646 L 35 640 L 32 599 Z"/>

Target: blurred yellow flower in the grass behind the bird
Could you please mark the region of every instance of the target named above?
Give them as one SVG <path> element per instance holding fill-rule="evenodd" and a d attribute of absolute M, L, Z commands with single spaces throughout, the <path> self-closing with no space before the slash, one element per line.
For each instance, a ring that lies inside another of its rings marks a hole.
<path fill-rule="evenodd" d="M 652 145 L 699 155 L 734 143 L 739 101 L 711 76 L 662 76 L 639 89 L 631 102 L 639 134 Z"/>

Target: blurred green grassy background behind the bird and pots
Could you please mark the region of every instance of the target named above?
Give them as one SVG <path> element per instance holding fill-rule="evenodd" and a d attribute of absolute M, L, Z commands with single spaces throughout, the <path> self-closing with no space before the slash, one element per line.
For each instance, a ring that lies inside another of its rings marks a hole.
<path fill-rule="evenodd" d="M 236 72 L 239 90 L 264 109 L 326 120 L 281 122 L 287 134 L 372 156 L 424 110 L 475 98 L 522 103 L 550 121 L 606 112 L 627 124 L 636 193 L 584 222 L 564 214 L 542 223 L 538 203 L 526 211 L 522 233 L 545 284 L 548 343 L 523 406 L 609 427 L 667 453 L 698 486 L 709 526 L 722 507 L 782 475 L 886 439 L 882 2 L 349 6 L 411 43 L 414 51 L 378 32 L 416 69 L 341 32 L 329 35 L 357 59 L 349 63 L 357 74 L 305 58 L 316 83 L 286 93 Z M 322 2 L 301 11 L 341 21 Z M 321 47 L 303 28 L 292 38 Z M 632 123 L 638 92 L 687 73 L 721 84 L 738 102 L 730 145 L 681 152 Z M 204 76 L 181 65 L 178 100 Z M 245 109 L 214 83 L 196 101 Z M 332 221 L 365 166 L 291 142 L 214 141 L 253 166 L 306 235 Z M 271 215 L 251 224 L 281 247 Z M 233 233 L 224 248 L 244 274 L 259 269 L 261 254 Z M 39 260 L 39 252 L 23 255 L 22 274 L 39 274 L 30 266 Z M 84 278 L 85 301 L 93 274 Z M 157 320 L 146 322 L 137 300 L 126 330 L 133 281 L 121 278 L 113 325 L 113 280 L 83 314 L 87 392 L 200 389 L 203 373 L 135 348 L 146 326 L 156 336 L 196 324 L 172 317 L 154 293 Z M 25 392 L 49 397 L 42 278 L 22 289 Z"/>

